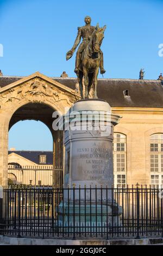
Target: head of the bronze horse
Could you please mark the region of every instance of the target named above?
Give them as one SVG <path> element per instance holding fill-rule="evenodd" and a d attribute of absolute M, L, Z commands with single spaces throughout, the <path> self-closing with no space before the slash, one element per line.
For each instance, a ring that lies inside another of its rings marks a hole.
<path fill-rule="evenodd" d="M 95 32 L 93 33 L 93 40 L 92 40 L 93 52 L 95 53 L 99 52 L 99 49 L 101 47 L 101 44 L 104 38 L 105 29 L 106 29 L 106 26 L 104 26 L 103 28 L 99 28 L 99 25 L 97 23 Z"/>

